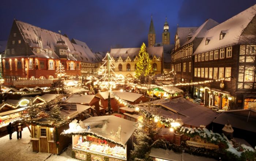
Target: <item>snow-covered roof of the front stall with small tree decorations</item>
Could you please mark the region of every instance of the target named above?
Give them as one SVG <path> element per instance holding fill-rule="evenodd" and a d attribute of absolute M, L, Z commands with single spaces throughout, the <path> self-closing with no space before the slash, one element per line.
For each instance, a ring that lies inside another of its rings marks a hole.
<path fill-rule="evenodd" d="M 126 145 L 129 138 L 132 136 L 135 131 L 134 122 L 119 118 L 113 115 L 110 116 L 96 116 L 90 117 L 83 121 L 84 125 L 87 127 L 90 125 L 90 130 L 86 129 L 68 129 L 64 134 L 93 134 L 99 137 L 102 137 L 108 141 L 119 143 L 123 146 Z M 102 128 L 104 125 L 107 125 L 108 128 Z M 121 138 L 110 134 L 113 130 L 116 133 L 118 127 L 121 126 Z"/>

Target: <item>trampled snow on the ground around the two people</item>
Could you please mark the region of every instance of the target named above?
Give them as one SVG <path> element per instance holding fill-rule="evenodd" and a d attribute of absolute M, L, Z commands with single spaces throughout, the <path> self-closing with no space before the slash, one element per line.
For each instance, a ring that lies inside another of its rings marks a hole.
<path fill-rule="evenodd" d="M 32 152 L 30 132 L 26 127 L 22 131 L 22 139 L 17 140 L 17 133 L 12 133 L 0 138 L 0 160 L 1 161 L 78 161 L 71 157 L 71 146 L 60 156 L 51 153 Z"/>

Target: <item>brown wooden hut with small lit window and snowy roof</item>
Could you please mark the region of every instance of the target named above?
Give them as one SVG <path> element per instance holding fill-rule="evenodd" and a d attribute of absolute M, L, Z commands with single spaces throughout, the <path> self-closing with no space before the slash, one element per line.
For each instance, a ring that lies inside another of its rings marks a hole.
<path fill-rule="evenodd" d="M 74 118 L 85 119 L 90 106 L 81 104 L 60 105 L 61 109 L 56 112 L 60 115 L 59 120 L 51 118 L 51 112 L 40 111 L 38 118 L 34 121 L 27 120 L 31 124 L 31 142 L 33 152 L 44 152 L 60 154 L 61 151 L 71 143 L 69 137 L 60 135 L 63 130 L 68 129 L 68 123 Z M 82 115 L 80 115 L 82 114 Z"/>

